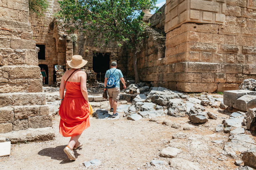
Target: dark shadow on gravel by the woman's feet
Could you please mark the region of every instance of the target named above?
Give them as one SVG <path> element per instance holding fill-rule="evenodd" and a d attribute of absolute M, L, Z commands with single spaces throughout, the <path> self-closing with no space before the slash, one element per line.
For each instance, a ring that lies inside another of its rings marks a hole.
<path fill-rule="evenodd" d="M 73 161 L 68 159 L 68 156 L 63 151 L 65 146 L 66 145 L 56 146 L 55 148 L 53 148 L 53 147 L 45 148 L 45 149 L 40 150 L 38 152 L 38 154 L 41 156 L 49 156 L 49 157 L 51 157 L 51 159 L 60 160 L 61 161 L 60 164 L 71 163 Z M 80 149 L 82 149 L 82 148 L 78 148 L 78 150 L 80 150 Z M 80 154 L 77 153 L 76 150 L 74 150 L 74 152 L 75 152 L 75 157 L 77 158 Z"/>

